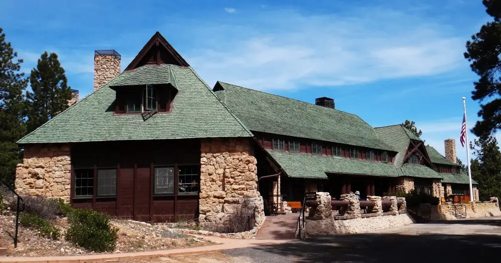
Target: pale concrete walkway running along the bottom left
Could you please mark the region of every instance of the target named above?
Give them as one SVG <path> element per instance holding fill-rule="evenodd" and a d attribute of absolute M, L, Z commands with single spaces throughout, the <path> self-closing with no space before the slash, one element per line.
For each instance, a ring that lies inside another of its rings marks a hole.
<path fill-rule="evenodd" d="M 132 252 L 132 253 L 115 253 L 115 254 L 93 254 L 93 255 L 75 255 L 75 256 L 0 256 L 0 262 L 44 262 L 44 263 L 83 263 L 83 262 L 105 262 L 105 261 L 117 261 L 117 260 L 129 260 L 138 258 L 153 258 L 159 256 L 173 256 L 173 255 L 183 255 L 183 254 L 197 254 L 197 253 L 209 253 L 219 250 L 241 248 L 241 247 L 251 247 L 257 245 L 271 245 L 280 244 L 287 242 L 288 240 L 269 240 L 269 239 L 231 239 L 231 238 L 220 238 L 215 236 L 206 236 L 206 240 L 216 242 L 218 244 L 199 246 L 199 247 L 189 247 L 189 248 L 177 248 L 169 250 L 157 250 L 157 251 L 146 251 L 146 252 Z M 34 244 L 36 245 L 36 244 Z"/>

